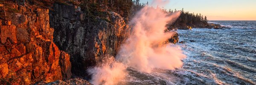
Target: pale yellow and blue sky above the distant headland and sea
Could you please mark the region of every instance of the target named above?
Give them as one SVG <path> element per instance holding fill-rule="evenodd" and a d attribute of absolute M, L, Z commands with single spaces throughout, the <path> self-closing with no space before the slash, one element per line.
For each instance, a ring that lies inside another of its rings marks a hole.
<path fill-rule="evenodd" d="M 153 0 L 140 0 L 140 3 Z M 256 20 L 256 0 L 169 0 L 164 7 L 207 16 L 208 20 Z"/>

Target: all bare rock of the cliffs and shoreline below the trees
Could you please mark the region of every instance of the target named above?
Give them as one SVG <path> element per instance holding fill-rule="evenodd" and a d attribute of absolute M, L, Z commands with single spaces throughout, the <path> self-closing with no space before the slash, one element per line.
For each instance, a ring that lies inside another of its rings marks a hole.
<path fill-rule="evenodd" d="M 0 84 L 91 85 L 87 68 L 108 54 L 115 56 L 130 35 L 124 17 L 108 11 L 89 21 L 87 12 L 73 4 L 51 8 L 0 2 Z M 183 27 L 183 28 L 181 28 Z M 192 29 L 200 26 L 180 26 Z M 218 24 L 206 28 L 227 29 Z M 159 43 L 177 43 L 178 34 Z M 192 41 L 191 41 L 192 42 Z M 76 78 L 80 77 L 80 78 Z M 71 79 L 70 79 L 71 78 Z"/>

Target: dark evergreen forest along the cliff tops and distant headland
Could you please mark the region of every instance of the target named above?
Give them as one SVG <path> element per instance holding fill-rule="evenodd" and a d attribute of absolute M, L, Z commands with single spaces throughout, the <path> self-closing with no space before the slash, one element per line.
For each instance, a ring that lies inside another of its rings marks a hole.
<path fill-rule="evenodd" d="M 15 2 L 22 2 L 23 0 L 14 0 Z M 96 17 L 100 17 L 104 20 L 109 14 L 108 11 L 113 11 L 124 17 L 125 21 L 128 22 L 131 18 L 145 6 L 149 6 L 149 3 L 140 3 L 140 0 L 28 0 L 29 4 L 34 4 L 43 8 L 50 8 L 53 3 L 59 4 L 73 4 L 80 6 L 81 10 L 87 13 L 87 21 L 95 20 Z M 24 3 L 26 4 L 26 3 Z M 153 7 L 151 7 L 153 8 Z M 173 13 L 180 11 L 180 17 L 175 20 L 174 23 L 167 25 L 168 29 L 189 29 L 189 28 L 214 28 L 215 25 L 210 26 L 208 24 L 207 16 L 202 14 L 190 13 L 177 9 L 166 9 L 160 8 L 165 13 Z"/>

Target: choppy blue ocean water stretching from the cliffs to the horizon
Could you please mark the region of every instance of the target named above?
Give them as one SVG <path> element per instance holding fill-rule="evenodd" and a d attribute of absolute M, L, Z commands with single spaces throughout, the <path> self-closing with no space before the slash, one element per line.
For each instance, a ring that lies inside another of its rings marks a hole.
<path fill-rule="evenodd" d="M 119 85 L 255 85 L 256 21 L 209 22 L 230 29 L 177 31 L 179 41 L 185 41 L 176 44 L 187 56 L 182 68 L 150 74 L 127 68 Z"/>

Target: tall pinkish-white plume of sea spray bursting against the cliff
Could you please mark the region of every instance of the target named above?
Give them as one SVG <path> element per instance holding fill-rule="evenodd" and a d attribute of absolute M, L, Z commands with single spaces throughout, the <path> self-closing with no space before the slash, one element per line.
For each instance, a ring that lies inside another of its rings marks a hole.
<path fill-rule="evenodd" d="M 128 67 L 146 73 L 154 68 L 173 70 L 181 67 L 181 59 L 186 56 L 179 47 L 159 46 L 159 43 L 173 36 L 172 32 L 164 31 L 166 24 L 179 15 L 180 12 L 166 14 L 160 9 L 142 8 L 130 21 L 133 33 L 120 48 L 116 59 L 109 57 L 100 66 L 88 70 L 92 74 L 90 82 L 95 85 L 113 85 L 124 78 L 124 71 Z"/>

